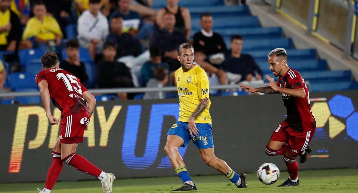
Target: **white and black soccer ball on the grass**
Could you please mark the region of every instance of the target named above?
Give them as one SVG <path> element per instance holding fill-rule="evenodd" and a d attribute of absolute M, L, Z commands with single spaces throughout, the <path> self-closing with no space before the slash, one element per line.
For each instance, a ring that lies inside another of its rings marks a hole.
<path fill-rule="evenodd" d="M 280 177 L 280 170 L 273 163 L 264 163 L 257 170 L 257 178 L 263 184 L 273 184 Z"/>

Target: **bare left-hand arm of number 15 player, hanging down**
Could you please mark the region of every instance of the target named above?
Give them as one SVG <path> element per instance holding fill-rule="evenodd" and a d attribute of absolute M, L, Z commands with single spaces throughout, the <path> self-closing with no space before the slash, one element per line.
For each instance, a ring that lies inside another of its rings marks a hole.
<path fill-rule="evenodd" d="M 40 95 L 42 99 L 42 104 L 44 105 L 46 116 L 50 121 L 51 125 L 58 124 L 58 119 L 52 116 L 50 109 L 50 92 L 48 90 L 48 84 L 46 80 L 41 80 L 39 85 Z"/>

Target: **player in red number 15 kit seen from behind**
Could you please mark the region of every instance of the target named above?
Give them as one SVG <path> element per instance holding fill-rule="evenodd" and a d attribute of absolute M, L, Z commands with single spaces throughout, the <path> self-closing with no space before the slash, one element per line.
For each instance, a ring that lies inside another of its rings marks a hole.
<path fill-rule="evenodd" d="M 35 81 L 40 88 L 42 103 L 52 125 L 59 120 L 52 116 L 50 99 L 59 108 L 61 114 L 61 131 L 52 151 L 52 166 L 48 170 L 45 188 L 37 189 L 39 193 L 51 192 L 61 173 L 63 162 L 72 165 L 81 172 L 86 172 L 101 180 L 104 193 L 112 192 L 116 177 L 105 173 L 81 155 L 76 154 L 78 143 L 83 142 L 83 132 L 96 105 L 96 99 L 71 73 L 59 68 L 57 55 L 46 52 L 41 63 L 43 70 L 37 74 Z"/>

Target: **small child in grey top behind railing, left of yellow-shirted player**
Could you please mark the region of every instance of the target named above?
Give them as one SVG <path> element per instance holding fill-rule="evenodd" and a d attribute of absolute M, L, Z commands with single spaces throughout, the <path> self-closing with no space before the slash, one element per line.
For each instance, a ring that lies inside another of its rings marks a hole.
<path fill-rule="evenodd" d="M 158 66 L 154 69 L 154 78 L 151 78 L 147 88 L 162 88 L 168 82 L 168 69 Z M 143 99 L 165 99 L 165 92 L 151 91 L 146 92 Z"/>

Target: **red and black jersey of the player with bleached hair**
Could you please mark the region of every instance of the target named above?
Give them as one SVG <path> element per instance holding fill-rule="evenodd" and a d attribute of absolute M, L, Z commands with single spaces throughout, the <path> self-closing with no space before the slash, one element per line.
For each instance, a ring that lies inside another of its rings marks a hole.
<path fill-rule="evenodd" d="M 316 121 L 310 107 L 310 94 L 301 74 L 290 68 L 284 77 L 279 77 L 277 85 L 289 89 L 304 88 L 306 91 L 305 98 L 291 97 L 288 94 L 281 93 L 282 100 L 284 100 L 284 105 L 287 108 L 286 121 L 289 127 L 299 132 L 307 132 L 316 128 Z"/>

